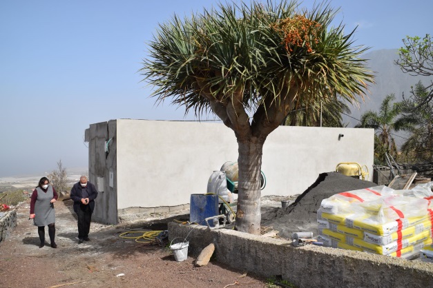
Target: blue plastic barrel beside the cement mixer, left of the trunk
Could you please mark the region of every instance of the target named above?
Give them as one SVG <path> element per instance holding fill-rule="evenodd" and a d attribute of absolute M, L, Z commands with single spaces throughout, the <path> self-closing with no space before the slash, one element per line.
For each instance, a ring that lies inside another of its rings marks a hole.
<path fill-rule="evenodd" d="M 205 218 L 218 216 L 218 195 L 191 194 L 189 222 L 207 225 Z M 209 225 L 213 227 L 213 222 Z"/>

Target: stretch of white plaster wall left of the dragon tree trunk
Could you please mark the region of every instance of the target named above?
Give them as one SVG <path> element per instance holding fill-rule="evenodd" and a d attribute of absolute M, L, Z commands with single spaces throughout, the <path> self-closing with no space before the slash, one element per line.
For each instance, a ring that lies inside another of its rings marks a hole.
<path fill-rule="evenodd" d="M 219 123 L 117 120 L 117 209 L 189 203 L 237 159 L 234 132 Z"/>

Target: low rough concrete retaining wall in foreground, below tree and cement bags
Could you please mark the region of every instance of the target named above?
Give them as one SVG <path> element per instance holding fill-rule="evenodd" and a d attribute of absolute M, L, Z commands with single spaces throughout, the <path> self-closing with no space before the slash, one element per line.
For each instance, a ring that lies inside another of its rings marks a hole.
<path fill-rule="evenodd" d="M 189 256 L 214 243 L 213 256 L 224 267 L 280 276 L 300 288 L 433 287 L 433 263 L 315 245 L 293 247 L 285 239 L 169 223 L 169 240 L 175 237 L 189 241 Z"/>

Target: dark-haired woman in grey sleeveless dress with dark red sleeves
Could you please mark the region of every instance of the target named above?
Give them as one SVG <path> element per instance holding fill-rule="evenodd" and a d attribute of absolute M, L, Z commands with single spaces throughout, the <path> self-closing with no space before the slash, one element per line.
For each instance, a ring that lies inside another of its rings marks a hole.
<path fill-rule="evenodd" d="M 48 226 L 48 235 L 50 236 L 51 247 L 57 248 L 55 243 L 55 211 L 54 204 L 59 196 L 54 187 L 50 185 L 48 178 L 42 177 L 39 185 L 32 193 L 30 201 L 30 218 L 34 219 L 37 226 L 37 233 L 41 244 L 39 248 L 45 246 L 45 226 Z"/>

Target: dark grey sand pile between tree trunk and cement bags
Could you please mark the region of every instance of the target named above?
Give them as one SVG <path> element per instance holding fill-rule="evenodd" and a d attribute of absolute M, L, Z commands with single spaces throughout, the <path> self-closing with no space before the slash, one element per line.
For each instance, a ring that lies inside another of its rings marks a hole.
<path fill-rule="evenodd" d="M 282 238 L 291 239 L 293 232 L 309 231 L 317 236 L 317 210 L 323 199 L 337 193 L 374 186 L 377 184 L 336 172 L 322 173 L 289 207 L 262 214 L 262 226 L 273 227 Z"/>

